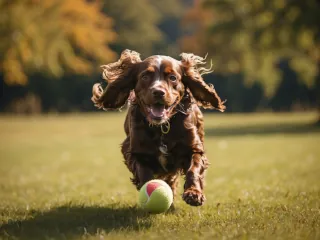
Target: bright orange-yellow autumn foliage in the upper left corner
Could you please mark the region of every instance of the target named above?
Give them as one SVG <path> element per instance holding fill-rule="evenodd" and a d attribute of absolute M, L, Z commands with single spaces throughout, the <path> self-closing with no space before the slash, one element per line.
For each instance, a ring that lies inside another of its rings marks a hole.
<path fill-rule="evenodd" d="M 26 84 L 41 72 L 88 74 L 113 60 L 112 20 L 97 1 L 0 0 L 0 67 L 7 84 Z"/>

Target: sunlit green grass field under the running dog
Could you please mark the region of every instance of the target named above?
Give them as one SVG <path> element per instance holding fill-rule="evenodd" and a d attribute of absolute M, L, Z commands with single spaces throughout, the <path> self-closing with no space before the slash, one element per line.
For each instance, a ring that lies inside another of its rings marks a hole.
<path fill-rule="evenodd" d="M 315 113 L 206 115 L 207 202 L 149 215 L 125 113 L 0 117 L 1 239 L 320 239 Z"/>

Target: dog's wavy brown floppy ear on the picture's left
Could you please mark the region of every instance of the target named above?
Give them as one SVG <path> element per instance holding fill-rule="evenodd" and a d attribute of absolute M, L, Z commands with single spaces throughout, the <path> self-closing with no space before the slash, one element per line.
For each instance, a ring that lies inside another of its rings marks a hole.
<path fill-rule="evenodd" d="M 135 66 L 141 62 L 140 54 L 124 50 L 117 62 L 101 66 L 102 77 L 108 82 L 103 90 L 101 84 L 93 85 L 92 98 L 98 108 L 121 108 L 127 101 L 136 84 Z"/>

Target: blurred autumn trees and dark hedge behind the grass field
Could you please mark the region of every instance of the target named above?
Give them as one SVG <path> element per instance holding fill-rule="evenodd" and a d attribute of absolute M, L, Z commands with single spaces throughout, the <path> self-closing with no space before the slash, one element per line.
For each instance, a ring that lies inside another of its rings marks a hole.
<path fill-rule="evenodd" d="M 0 0 L 0 109 L 94 111 L 99 66 L 128 48 L 208 53 L 227 112 L 319 110 L 319 12 L 317 0 Z"/>

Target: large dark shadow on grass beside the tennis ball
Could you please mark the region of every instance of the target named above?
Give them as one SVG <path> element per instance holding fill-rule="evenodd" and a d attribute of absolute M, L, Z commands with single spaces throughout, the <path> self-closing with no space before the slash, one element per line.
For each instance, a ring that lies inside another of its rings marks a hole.
<path fill-rule="evenodd" d="M 0 238 L 69 239 L 117 230 L 138 231 L 151 226 L 149 214 L 135 207 L 70 207 L 34 212 L 26 220 L 0 226 Z"/>

